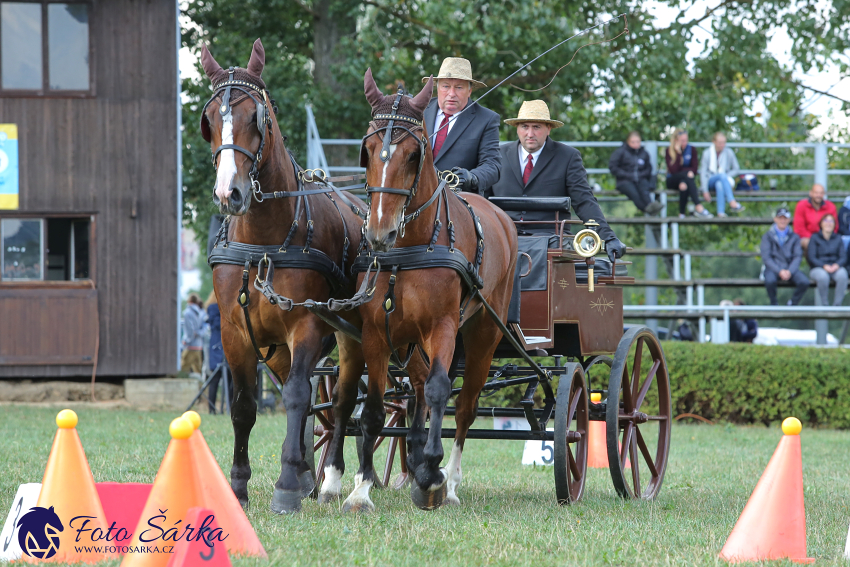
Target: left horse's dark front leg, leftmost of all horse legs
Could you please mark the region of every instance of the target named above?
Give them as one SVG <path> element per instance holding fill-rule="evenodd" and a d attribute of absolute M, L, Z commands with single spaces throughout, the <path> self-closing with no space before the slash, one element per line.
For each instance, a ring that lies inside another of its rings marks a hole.
<path fill-rule="evenodd" d="M 222 329 L 224 331 L 225 329 Z M 233 343 L 224 342 L 230 346 Z M 257 357 L 249 349 L 232 352 L 225 347 L 233 376 L 233 404 L 230 421 L 233 424 L 233 466 L 230 469 L 230 486 L 242 508 L 248 507 L 248 480 L 251 462 L 248 458 L 248 439 L 257 420 Z"/>

